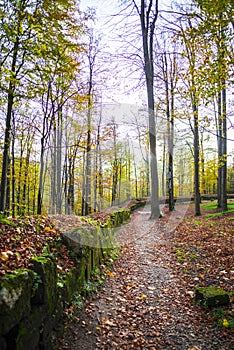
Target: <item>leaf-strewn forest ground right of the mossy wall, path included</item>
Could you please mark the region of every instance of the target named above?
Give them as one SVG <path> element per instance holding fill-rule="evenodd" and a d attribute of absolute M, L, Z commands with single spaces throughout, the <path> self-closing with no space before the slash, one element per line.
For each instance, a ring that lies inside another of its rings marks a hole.
<path fill-rule="evenodd" d="M 101 266 L 107 277 L 98 292 L 66 311 L 56 349 L 234 349 L 234 212 L 209 205 L 194 217 L 178 205 L 149 220 L 149 210 L 118 229 L 120 257 Z M 195 287 L 210 285 L 232 292 L 229 306 L 195 304 Z"/>

